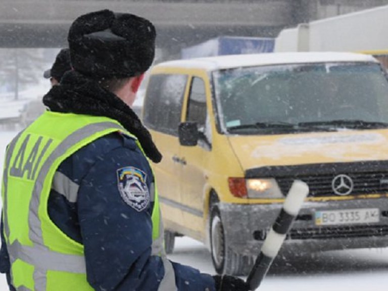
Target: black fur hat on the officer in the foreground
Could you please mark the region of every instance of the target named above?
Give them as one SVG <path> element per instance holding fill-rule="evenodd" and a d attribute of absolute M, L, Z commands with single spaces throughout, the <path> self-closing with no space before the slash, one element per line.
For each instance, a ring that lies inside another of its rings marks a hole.
<path fill-rule="evenodd" d="M 68 34 L 73 69 L 94 79 L 140 75 L 154 61 L 155 38 L 154 25 L 133 14 L 81 15 Z"/>

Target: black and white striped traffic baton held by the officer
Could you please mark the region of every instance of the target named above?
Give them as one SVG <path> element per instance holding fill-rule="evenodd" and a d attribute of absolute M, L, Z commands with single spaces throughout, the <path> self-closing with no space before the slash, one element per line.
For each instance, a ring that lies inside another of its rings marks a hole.
<path fill-rule="evenodd" d="M 271 230 L 268 232 L 260 254 L 248 275 L 247 283 L 250 286 L 250 290 L 256 290 L 267 274 L 308 193 L 309 186 L 305 182 L 300 180 L 294 181 L 284 200 L 283 207 Z"/>

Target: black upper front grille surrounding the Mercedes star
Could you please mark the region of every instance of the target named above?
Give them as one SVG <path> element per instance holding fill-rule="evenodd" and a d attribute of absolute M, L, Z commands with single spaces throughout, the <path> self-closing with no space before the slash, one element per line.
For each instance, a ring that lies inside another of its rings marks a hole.
<path fill-rule="evenodd" d="M 313 169 L 312 169 L 313 171 Z M 344 173 L 352 178 L 354 188 L 349 195 L 388 192 L 388 172 Z M 309 197 L 325 197 L 335 195 L 331 186 L 335 174 L 302 175 L 297 177 L 276 177 L 279 187 L 285 196 L 294 179 L 300 179 L 308 184 Z"/>

